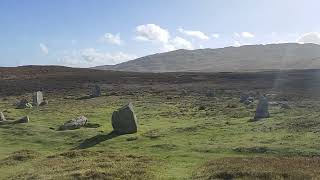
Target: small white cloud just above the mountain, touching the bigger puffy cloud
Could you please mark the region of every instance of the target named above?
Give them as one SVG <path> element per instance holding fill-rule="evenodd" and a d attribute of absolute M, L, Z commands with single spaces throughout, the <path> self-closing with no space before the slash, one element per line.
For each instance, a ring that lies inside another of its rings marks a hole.
<path fill-rule="evenodd" d="M 192 43 L 186 39 L 183 39 L 181 37 L 175 37 L 174 39 L 171 39 L 169 43 L 165 43 L 163 45 L 164 51 L 174 51 L 177 49 L 188 49 L 192 50 L 194 49 Z"/>

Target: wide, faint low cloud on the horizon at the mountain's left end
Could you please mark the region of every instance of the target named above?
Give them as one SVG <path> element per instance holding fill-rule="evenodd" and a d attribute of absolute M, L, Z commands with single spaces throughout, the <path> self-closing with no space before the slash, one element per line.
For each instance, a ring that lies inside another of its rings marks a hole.
<path fill-rule="evenodd" d="M 123 52 L 108 53 L 94 48 L 82 49 L 65 54 L 58 61 L 66 66 L 93 67 L 100 65 L 113 65 L 128 60 L 136 59 L 137 56 Z"/>

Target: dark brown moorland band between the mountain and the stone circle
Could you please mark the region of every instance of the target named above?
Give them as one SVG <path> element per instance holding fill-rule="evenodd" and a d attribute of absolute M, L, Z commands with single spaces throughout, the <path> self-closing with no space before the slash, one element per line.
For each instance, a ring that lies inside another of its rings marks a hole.
<path fill-rule="evenodd" d="M 208 89 L 256 91 L 318 97 L 320 70 L 265 71 L 245 73 L 132 73 L 56 66 L 0 68 L 0 95 L 21 95 L 36 90 L 68 94 L 88 92 L 94 84 L 108 93 L 205 93 Z"/>

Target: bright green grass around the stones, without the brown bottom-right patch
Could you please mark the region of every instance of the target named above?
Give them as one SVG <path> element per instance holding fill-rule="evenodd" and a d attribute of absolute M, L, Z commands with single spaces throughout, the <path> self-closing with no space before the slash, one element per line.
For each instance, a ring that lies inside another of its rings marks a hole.
<path fill-rule="evenodd" d="M 83 100 L 48 97 L 49 105 L 25 110 L 15 109 L 12 105 L 14 97 L 8 97 L 0 102 L 0 110 L 6 110 L 8 119 L 29 115 L 30 123 L 0 126 L 0 164 L 3 164 L 0 165 L 0 177 L 59 179 L 60 175 L 66 175 L 63 176 L 66 179 L 190 179 L 208 161 L 221 158 L 311 157 L 320 154 L 320 106 L 316 101 L 306 102 L 303 107 L 292 105 L 289 110 L 271 107 L 270 118 L 249 122 L 254 108 L 238 103 L 237 96 L 209 99 L 203 96 L 166 97 L 161 94 Z M 128 102 L 133 102 L 136 111 L 138 133 L 108 137 L 112 131 L 112 112 Z M 299 105 L 303 104 L 299 102 Z M 200 106 L 204 109 L 199 110 Z M 65 121 L 80 115 L 101 126 L 56 130 Z M 73 149 L 85 140 L 96 141 L 81 146 L 86 148 L 84 152 L 91 153 L 89 156 L 72 159 L 61 156 L 74 152 Z M 10 159 L 17 154 L 14 152 L 21 150 L 34 152 L 39 157 L 26 158 L 25 161 Z M 117 164 L 110 154 L 124 159 L 123 164 Z M 50 156 L 54 158 L 48 158 Z M 131 156 L 142 160 L 127 158 Z M 109 170 L 100 167 L 102 157 L 113 163 Z M 148 162 L 145 166 L 144 161 Z M 77 170 L 66 168 L 78 162 L 87 163 L 92 172 L 82 166 Z M 135 162 L 137 164 L 132 166 Z M 56 165 L 59 163 L 61 167 Z M 38 169 L 26 171 L 31 166 Z M 50 169 L 55 166 L 56 173 L 52 174 Z M 118 167 L 122 168 L 121 171 L 117 171 Z M 138 169 L 142 172 L 137 172 Z M 120 172 L 127 174 L 120 176 Z"/>

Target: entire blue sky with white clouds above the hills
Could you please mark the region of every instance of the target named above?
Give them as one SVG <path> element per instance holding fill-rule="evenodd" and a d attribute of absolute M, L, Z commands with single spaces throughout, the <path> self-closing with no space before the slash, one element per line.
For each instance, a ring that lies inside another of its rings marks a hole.
<path fill-rule="evenodd" d="M 177 49 L 320 44 L 318 0 L 1 0 L 0 66 L 113 65 Z"/>

